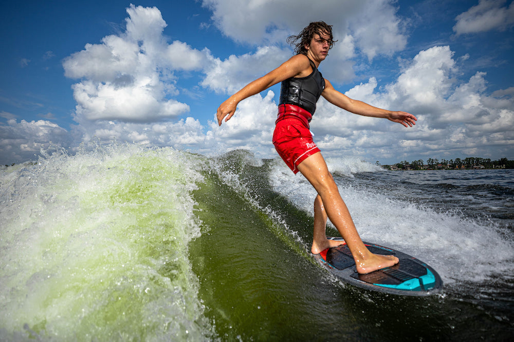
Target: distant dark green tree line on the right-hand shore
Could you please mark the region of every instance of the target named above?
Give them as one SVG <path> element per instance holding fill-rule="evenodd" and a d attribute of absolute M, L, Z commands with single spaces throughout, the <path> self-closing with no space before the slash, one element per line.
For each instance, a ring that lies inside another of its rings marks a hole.
<path fill-rule="evenodd" d="M 380 163 L 377 161 L 377 165 Z M 413 160 L 412 162 L 399 162 L 393 165 L 382 165 L 383 168 L 392 169 L 392 167 L 401 170 L 470 170 L 470 169 L 514 169 L 514 160 L 501 158 L 491 160 L 490 158 L 467 157 L 464 159 L 437 159 L 428 158 L 425 164 L 423 159 Z"/>

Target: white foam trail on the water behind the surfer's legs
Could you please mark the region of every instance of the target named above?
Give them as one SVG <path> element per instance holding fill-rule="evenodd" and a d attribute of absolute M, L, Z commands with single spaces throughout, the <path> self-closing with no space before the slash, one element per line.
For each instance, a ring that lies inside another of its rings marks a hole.
<path fill-rule="evenodd" d="M 329 160 L 327 164 L 331 171 L 345 176 L 377 170 L 375 165 L 349 159 Z M 277 162 L 270 185 L 299 209 L 314 215 L 316 191 L 301 174 L 295 176 Z M 373 183 L 365 188 L 351 184 L 338 187 L 363 240 L 429 263 L 447 284 L 480 283 L 514 269 L 514 244 L 493 223 L 485 225 L 458 212 L 436 212 L 409 202 L 408 197 L 392 199 L 374 189 Z"/>

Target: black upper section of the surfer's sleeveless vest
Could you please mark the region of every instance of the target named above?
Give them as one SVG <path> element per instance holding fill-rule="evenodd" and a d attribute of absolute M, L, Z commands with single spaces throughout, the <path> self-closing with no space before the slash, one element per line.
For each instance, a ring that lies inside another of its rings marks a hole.
<path fill-rule="evenodd" d="M 306 77 L 291 77 L 282 81 L 280 105 L 296 105 L 314 114 L 316 103 L 325 89 L 325 79 L 309 59 L 313 72 Z"/>

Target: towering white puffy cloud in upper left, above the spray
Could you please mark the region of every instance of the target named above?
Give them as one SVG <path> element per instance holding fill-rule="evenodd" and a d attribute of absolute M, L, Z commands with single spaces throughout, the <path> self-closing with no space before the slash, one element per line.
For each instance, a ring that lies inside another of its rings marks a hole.
<path fill-rule="evenodd" d="M 67 77 L 81 79 L 72 87 L 78 122 L 150 123 L 190 110 L 173 98 L 178 93 L 174 71 L 202 69 L 209 51 L 168 44 L 162 34 L 167 24 L 155 7 L 131 5 L 127 13 L 125 32 L 87 44 L 63 62 Z"/>

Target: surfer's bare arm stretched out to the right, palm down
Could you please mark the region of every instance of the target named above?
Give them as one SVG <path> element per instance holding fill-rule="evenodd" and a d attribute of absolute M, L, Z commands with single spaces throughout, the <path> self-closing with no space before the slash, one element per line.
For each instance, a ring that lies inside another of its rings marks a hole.
<path fill-rule="evenodd" d="M 365 102 L 354 100 L 343 93 L 337 91 L 330 82 L 325 78 L 325 89 L 321 94 L 323 97 L 331 104 L 347 110 L 348 112 L 352 112 L 354 114 L 359 114 L 363 116 L 371 116 L 371 117 L 381 117 L 387 118 L 392 122 L 402 124 L 405 127 L 412 127 L 416 124 L 417 118 L 407 112 L 402 111 L 390 111 L 386 109 L 381 109 L 378 107 L 373 107 L 368 105 Z"/>

